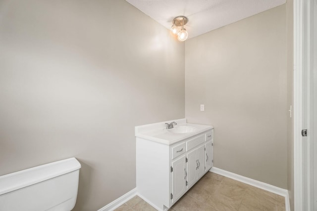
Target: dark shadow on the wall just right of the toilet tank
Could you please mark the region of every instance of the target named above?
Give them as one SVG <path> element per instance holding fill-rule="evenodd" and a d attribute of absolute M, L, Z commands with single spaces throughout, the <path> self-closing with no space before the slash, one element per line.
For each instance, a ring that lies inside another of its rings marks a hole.
<path fill-rule="evenodd" d="M 80 208 L 83 208 L 85 204 L 87 204 L 86 201 L 89 200 L 87 198 L 87 194 L 91 193 L 91 181 L 92 181 L 92 168 L 84 163 L 82 160 L 76 158 L 79 163 L 81 164 L 81 169 L 79 171 L 79 184 L 78 184 L 78 194 L 77 194 L 77 200 L 76 205 L 73 209 L 73 211 L 80 210 Z M 86 195 L 86 196 L 85 196 Z"/>

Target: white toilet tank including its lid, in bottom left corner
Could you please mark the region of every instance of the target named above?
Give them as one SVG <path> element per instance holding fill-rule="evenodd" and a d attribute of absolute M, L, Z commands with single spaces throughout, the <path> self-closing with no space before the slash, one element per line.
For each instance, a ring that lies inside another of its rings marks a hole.
<path fill-rule="evenodd" d="M 0 211 L 70 211 L 80 163 L 69 158 L 0 176 Z"/>

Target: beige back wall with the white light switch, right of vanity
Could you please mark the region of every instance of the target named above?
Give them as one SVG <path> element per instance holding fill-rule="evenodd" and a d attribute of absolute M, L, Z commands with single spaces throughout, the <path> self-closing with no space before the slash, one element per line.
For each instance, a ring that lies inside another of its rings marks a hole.
<path fill-rule="evenodd" d="M 285 4 L 185 43 L 185 117 L 215 127 L 214 166 L 285 189 L 287 43 Z"/>

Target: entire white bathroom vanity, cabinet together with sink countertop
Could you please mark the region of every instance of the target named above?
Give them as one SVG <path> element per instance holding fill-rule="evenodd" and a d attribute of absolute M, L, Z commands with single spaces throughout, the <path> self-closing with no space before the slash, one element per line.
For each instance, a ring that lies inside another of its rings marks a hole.
<path fill-rule="evenodd" d="M 176 122 L 173 128 L 165 123 Z M 212 167 L 213 127 L 186 119 L 135 127 L 138 195 L 168 210 Z"/>

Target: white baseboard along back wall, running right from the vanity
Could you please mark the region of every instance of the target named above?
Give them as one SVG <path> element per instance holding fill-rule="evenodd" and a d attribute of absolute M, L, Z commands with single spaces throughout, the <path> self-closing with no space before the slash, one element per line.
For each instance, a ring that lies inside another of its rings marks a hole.
<path fill-rule="evenodd" d="M 241 176 L 239 174 L 235 174 L 226 170 L 218 169 L 216 167 L 212 167 L 209 171 L 213 173 L 220 174 L 222 176 L 246 183 L 248 185 L 255 186 L 257 188 L 261 188 L 263 190 L 275 193 L 277 195 L 285 197 L 285 211 L 290 211 L 290 205 L 289 205 L 289 196 L 288 196 L 288 190 L 285 190 L 283 188 L 276 187 L 274 185 L 270 185 L 264 182 L 260 182 L 255 179 L 251 179 L 245 176 Z"/>

